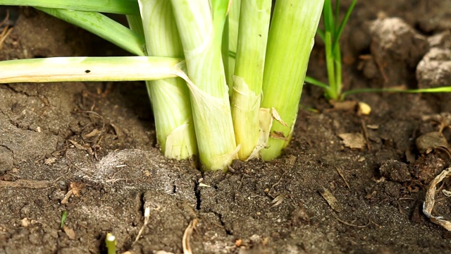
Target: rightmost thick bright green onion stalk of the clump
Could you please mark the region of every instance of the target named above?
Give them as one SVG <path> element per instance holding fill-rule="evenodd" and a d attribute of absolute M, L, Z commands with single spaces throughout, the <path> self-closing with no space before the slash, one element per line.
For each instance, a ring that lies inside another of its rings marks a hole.
<path fill-rule="evenodd" d="M 263 100 L 274 120 L 267 148 L 261 158 L 271 160 L 280 155 L 292 138 L 299 100 L 323 0 L 276 1 L 268 35 Z M 280 117 L 279 117 L 280 116 Z"/>

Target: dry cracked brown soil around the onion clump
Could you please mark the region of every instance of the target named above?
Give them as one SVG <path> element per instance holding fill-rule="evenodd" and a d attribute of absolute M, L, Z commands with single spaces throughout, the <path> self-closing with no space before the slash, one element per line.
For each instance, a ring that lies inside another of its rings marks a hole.
<path fill-rule="evenodd" d="M 451 1 L 359 1 L 342 38 L 344 89 L 428 81 L 416 66 L 449 45 L 450 14 Z M 20 8 L 0 59 L 123 54 Z M 326 81 L 323 55 L 318 42 L 308 75 Z M 224 174 L 161 155 L 143 83 L 0 85 L 0 253 L 106 253 L 109 232 L 118 253 L 183 253 L 194 220 L 192 253 L 447 253 L 451 234 L 422 207 L 450 166 L 450 99 L 360 93 L 332 106 L 306 85 L 285 153 Z M 434 214 L 449 219 L 436 197 Z"/>

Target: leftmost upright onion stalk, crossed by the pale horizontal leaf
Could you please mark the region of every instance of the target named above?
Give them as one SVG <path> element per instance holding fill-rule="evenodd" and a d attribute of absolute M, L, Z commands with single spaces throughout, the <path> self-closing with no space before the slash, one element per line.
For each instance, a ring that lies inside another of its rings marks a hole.
<path fill-rule="evenodd" d="M 147 54 L 183 57 L 170 1 L 139 0 Z M 130 20 L 130 18 L 129 18 Z M 182 78 L 146 81 L 154 109 L 156 138 L 168 158 L 197 155 L 190 94 Z"/>

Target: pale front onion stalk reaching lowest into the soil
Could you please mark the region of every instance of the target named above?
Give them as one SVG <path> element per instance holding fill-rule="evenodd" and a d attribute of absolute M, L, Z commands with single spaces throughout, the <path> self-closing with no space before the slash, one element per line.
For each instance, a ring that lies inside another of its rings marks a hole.
<path fill-rule="evenodd" d="M 228 86 L 221 56 L 228 0 L 171 0 L 185 52 L 199 158 L 226 169 L 237 158 Z"/>

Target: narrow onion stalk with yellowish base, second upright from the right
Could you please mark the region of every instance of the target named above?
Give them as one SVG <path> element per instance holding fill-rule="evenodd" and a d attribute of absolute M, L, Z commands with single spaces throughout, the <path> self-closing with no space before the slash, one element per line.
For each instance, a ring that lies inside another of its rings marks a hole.
<path fill-rule="evenodd" d="M 271 0 L 241 1 L 232 118 L 240 159 L 259 156 L 259 108 L 268 40 Z M 251 156 L 252 155 L 252 156 Z"/>

